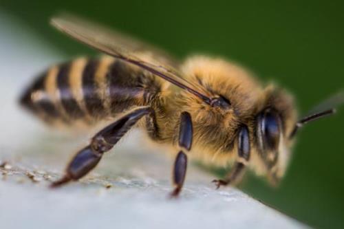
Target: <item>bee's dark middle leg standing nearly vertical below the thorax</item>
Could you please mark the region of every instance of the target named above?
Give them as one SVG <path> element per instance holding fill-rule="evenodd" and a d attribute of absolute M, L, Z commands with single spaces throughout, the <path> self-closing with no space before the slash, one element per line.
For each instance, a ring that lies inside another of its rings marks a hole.
<path fill-rule="evenodd" d="M 179 151 L 177 157 L 175 157 L 175 164 L 173 166 L 173 184 L 175 185 L 175 188 L 171 193 L 171 197 L 178 197 L 180 190 L 182 190 L 188 164 L 188 157 L 184 153 L 183 149 L 185 151 L 190 151 L 192 142 L 193 123 L 190 113 L 184 111 L 180 115 L 178 145 L 180 146 L 181 150 Z"/>

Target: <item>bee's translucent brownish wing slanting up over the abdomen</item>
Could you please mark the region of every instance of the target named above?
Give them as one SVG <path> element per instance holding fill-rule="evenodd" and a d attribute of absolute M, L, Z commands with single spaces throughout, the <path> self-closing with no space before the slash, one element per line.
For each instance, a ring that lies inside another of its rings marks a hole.
<path fill-rule="evenodd" d="M 74 39 L 94 47 L 96 50 L 141 67 L 173 83 L 173 85 L 186 89 L 195 96 L 202 98 L 202 100 L 209 100 L 204 89 L 187 81 L 178 69 L 173 67 L 172 63 L 174 62 L 166 57 L 166 54 L 150 45 L 131 39 L 101 25 L 96 25 L 95 23 L 67 14 L 52 18 L 51 23 L 61 32 L 65 32 Z M 149 49 L 147 50 L 148 52 L 154 52 L 155 56 L 157 56 L 155 63 L 148 63 L 135 55 L 136 52 L 144 51 L 146 47 Z"/>

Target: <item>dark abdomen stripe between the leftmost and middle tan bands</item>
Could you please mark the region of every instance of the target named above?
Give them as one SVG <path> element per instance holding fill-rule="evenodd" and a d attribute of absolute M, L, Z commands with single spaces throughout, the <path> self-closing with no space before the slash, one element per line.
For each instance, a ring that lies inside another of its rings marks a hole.
<path fill-rule="evenodd" d="M 73 97 L 72 91 L 69 85 L 69 69 L 71 63 L 65 63 L 60 65 L 57 75 L 57 87 L 60 92 L 60 100 L 63 108 L 65 109 L 68 116 L 74 119 L 82 118 L 84 116 L 83 111 L 78 106 Z"/>

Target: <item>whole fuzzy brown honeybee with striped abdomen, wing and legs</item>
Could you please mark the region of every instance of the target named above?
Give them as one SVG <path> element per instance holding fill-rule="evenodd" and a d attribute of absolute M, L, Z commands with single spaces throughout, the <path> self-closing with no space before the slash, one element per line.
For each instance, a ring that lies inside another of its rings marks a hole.
<path fill-rule="evenodd" d="M 288 91 L 263 85 L 222 58 L 191 56 L 184 63 L 129 36 L 70 15 L 52 25 L 106 54 L 51 67 L 21 96 L 21 105 L 52 125 L 94 126 L 111 120 L 67 165 L 61 186 L 96 167 L 133 127 L 158 144 L 173 146 L 177 197 L 188 158 L 231 166 L 216 187 L 235 185 L 247 168 L 278 184 L 286 173 L 294 137 L 303 124 L 329 116 L 344 102 L 339 93 L 298 118 Z"/>

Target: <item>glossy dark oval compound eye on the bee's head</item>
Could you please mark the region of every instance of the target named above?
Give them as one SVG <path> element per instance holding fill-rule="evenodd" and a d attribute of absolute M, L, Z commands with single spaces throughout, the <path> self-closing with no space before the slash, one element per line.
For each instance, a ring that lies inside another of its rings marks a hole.
<path fill-rule="evenodd" d="M 279 115 L 276 112 L 268 109 L 259 115 L 258 131 L 265 149 L 277 149 L 281 133 L 280 128 Z"/>

